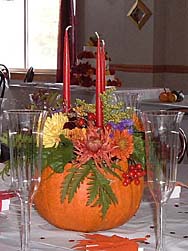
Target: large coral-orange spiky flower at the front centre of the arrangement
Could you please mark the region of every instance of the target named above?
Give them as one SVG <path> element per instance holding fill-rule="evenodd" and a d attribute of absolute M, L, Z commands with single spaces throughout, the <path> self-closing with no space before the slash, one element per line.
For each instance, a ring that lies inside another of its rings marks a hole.
<path fill-rule="evenodd" d="M 80 139 L 72 139 L 77 154 L 77 165 L 81 166 L 93 159 L 97 167 L 103 166 L 104 162 L 110 167 L 113 150 L 110 132 L 89 124 L 86 133 L 82 132 L 80 136 Z"/>

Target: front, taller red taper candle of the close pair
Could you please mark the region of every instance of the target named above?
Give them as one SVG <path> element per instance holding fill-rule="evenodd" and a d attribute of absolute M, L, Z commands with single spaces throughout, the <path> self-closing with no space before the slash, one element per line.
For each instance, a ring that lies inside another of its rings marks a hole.
<path fill-rule="evenodd" d="M 97 55 L 96 55 L 96 126 L 103 126 L 103 110 L 100 94 L 101 90 L 101 47 L 100 47 L 100 38 L 98 33 L 95 33 L 97 36 Z"/>

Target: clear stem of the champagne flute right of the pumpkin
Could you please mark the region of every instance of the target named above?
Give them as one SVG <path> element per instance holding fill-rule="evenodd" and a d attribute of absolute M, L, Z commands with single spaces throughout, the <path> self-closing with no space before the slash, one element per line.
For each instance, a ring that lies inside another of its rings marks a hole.
<path fill-rule="evenodd" d="M 164 215 L 164 204 L 157 203 L 157 243 L 156 243 L 156 251 L 165 251 L 165 215 Z"/>

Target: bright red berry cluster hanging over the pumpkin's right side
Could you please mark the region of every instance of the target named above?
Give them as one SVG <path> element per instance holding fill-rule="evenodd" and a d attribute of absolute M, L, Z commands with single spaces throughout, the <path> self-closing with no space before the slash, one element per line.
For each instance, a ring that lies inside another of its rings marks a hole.
<path fill-rule="evenodd" d="M 123 172 L 123 185 L 128 186 L 131 182 L 134 181 L 135 185 L 140 184 L 140 177 L 143 177 L 146 174 L 145 170 L 142 168 L 140 163 L 131 164 L 126 172 Z"/>

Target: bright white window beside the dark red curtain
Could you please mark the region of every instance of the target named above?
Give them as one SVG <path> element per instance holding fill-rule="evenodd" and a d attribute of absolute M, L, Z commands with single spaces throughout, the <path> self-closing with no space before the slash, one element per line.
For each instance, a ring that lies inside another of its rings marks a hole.
<path fill-rule="evenodd" d="M 0 63 L 56 69 L 59 0 L 0 0 Z"/>

